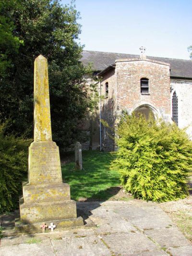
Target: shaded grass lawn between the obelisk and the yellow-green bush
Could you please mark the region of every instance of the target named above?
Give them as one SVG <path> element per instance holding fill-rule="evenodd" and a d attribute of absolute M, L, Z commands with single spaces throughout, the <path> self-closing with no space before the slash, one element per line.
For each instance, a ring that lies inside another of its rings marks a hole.
<path fill-rule="evenodd" d="M 73 154 L 71 158 L 73 158 Z M 120 190 L 119 173 L 109 170 L 114 153 L 83 151 L 83 170 L 74 169 L 74 160 L 61 166 L 64 182 L 71 187 L 71 198 L 107 200 Z"/>

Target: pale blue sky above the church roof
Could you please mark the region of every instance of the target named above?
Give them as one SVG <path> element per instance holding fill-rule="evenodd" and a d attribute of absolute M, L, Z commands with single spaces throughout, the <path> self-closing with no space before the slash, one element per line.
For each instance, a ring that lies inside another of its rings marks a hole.
<path fill-rule="evenodd" d="M 61 0 L 68 4 L 70 0 Z M 192 0 L 76 0 L 84 50 L 189 60 Z"/>

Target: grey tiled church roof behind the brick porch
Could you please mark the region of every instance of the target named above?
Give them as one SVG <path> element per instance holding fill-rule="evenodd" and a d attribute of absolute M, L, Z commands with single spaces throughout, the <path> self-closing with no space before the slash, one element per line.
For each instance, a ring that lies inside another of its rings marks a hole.
<path fill-rule="evenodd" d="M 108 66 L 114 64 L 115 60 L 117 59 L 129 59 L 138 57 L 139 55 L 133 54 L 84 50 L 81 61 L 84 65 L 87 65 L 89 62 L 92 62 L 93 69 L 95 71 L 102 71 L 106 69 Z M 182 77 L 192 79 L 192 61 L 190 60 L 169 59 L 151 56 L 147 56 L 147 59 L 169 63 L 171 69 L 171 77 Z"/>

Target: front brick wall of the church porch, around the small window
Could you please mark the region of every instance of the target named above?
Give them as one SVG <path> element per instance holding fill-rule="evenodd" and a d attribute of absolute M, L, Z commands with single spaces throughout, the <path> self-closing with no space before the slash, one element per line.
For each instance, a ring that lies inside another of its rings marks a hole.
<path fill-rule="evenodd" d="M 148 103 L 165 120 L 170 120 L 169 64 L 152 60 L 117 60 L 118 108 L 132 112 Z M 141 78 L 149 79 L 149 94 L 141 94 Z"/>

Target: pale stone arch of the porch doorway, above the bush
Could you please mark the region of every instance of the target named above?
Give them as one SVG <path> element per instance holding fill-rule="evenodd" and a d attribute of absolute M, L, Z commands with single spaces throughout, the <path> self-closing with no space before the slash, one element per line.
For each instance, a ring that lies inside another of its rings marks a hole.
<path fill-rule="evenodd" d="M 160 118 L 160 113 L 159 111 L 152 105 L 150 104 L 142 104 L 136 107 L 134 110 L 132 110 L 136 115 L 137 114 L 143 114 L 146 119 L 149 118 L 149 115 L 151 114 L 154 118 L 154 120 L 157 120 Z"/>

